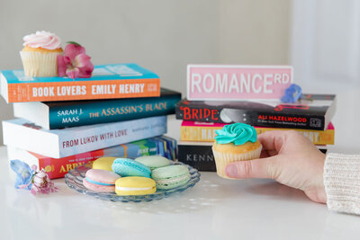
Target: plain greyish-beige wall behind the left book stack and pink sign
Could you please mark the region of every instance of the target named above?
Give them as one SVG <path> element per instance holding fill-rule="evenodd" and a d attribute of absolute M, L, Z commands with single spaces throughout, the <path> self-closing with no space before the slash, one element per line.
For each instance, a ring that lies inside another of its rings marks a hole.
<path fill-rule="evenodd" d="M 188 63 L 287 64 L 290 9 L 287 0 L 0 0 L 0 69 L 22 68 L 23 36 L 45 30 L 63 46 L 81 43 L 94 64 L 135 62 L 184 94 Z M 0 120 L 11 118 L 1 99 Z"/>

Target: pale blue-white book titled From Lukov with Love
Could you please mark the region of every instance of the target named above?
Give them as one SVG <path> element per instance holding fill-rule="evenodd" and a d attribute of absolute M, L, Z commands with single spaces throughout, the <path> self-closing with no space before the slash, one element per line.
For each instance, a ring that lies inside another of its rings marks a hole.
<path fill-rule="evenodd" d="M 29 120 L 3 121 L 4 145 L 60 158 L 166 133 L 166 116 L 69 129 L 41 129 Z"/>

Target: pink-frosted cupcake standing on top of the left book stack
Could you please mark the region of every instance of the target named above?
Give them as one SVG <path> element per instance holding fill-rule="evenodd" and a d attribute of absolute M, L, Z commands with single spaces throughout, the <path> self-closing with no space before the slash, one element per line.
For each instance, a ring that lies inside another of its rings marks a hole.
<path fill-rule="evenodd" d="M 36 31 L 23 37 L 23 61 L 25 76 L 58 76 L 57 56 L 62 54 L 61 42 L 49 31 Z"/>

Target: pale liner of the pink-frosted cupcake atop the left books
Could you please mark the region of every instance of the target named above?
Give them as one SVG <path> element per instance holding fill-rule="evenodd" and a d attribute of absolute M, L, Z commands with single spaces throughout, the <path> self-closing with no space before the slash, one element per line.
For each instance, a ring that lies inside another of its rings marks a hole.
<path fill-rule="evenodd" d="M 25 76 L 58 76 L 60 52 L 21 51 Z"/>

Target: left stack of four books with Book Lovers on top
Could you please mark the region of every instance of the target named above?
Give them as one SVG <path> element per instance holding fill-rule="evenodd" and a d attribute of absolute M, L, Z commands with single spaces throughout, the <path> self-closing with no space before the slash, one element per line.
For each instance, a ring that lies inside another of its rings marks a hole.
<path fill-rule="evenodd" d="M 95 66 L 91 78 L 75 80 L 5 70 L 0 82 L 18 118 L 3 121 L 9 160 L 36 164 L 51 179 L 101 156 L 177 157 L 175 139 L 162 135 L 181 93 L 136 64 Z"/>

